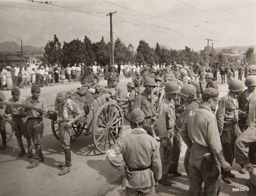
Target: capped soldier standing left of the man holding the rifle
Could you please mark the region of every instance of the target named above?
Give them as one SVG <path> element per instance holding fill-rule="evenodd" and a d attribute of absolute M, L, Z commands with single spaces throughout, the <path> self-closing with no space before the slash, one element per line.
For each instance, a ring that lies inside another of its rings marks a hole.
<path fill-rule="evenodd" d="M 11 104 L 24 104 L 25 98 L 20 97 L 20 90 L 18 87 L 12 88 L 12 98 L 10 98 L 8 102 Z M 17 138 L 18 145 L 20 147 L 20 153 L 18 154 L 18 157 L 22 157 L 23 155 L 25 155 L 25 149 L 22 142 L 22 135 L 27 140 L 28 158 L 33 157 L 31 138 L 27 131 L 26 113 L 24 112 L 24 108 L 22 110 L 19 110 L 14 107 L 6 106 L 4 108 L 4 112 L 5 114 L 11 114 L 12 116 L 12 131 L 14 132 Z"/>

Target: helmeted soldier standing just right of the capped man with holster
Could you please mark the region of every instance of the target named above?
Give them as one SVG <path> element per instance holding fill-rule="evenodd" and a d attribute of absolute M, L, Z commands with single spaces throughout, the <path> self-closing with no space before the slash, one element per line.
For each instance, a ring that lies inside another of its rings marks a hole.
<path fill-rule="evenodd" d="M 234 144 L 236 138 L 240 135 L 240 129 L 238 127 L 238 101 L 236 96 L 243 91 L 244 84 L 240 80 L 234 79 L 228 84 L 228 89 L 230 90 L 228 94 L 222 97 L 219 102 L 216 118 L 223 154 L 225 160 L 232 166 L 234 161 Z M 235 174 L 232 174 L 230 171 L 226 172 L 222 170 L 222 179 L 224 182 L 230 184 L 232 183 L 230 178 L 235 177 Z"/>

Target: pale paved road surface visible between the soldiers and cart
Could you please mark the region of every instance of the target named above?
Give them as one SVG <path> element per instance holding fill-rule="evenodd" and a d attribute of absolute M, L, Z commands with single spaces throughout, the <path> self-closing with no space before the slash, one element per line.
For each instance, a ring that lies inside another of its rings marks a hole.
<path fill-rule="evenodd" d="M 237 76 L 237 74 L 236 74 Z M 220 76 L 219 76 L 220 78 Z M 122 78 L 120 86 L 126 89 L 127 82 L 131 78 Z M 106 85 L 106 81 L 100 81 Z M 46 99 L 48 106 L 54 104 L 55 96 L 58 92 L 68 92 L 80 86 L 79 83 L 56 84 L 52 87 L 43 87 L 41 96 Z M 227 85 L 220 84 L 218 80 L 220 96 L 227 93 Z M 4 91 L 6 98 L 11 97 L 10 91 Z M 30 88 L 21 90 L 22 96 L 30 96 Z M 128 122 L 124 123 L 124 134 L 130 133 Z M 24 140 L 24 144 L 26 141 Z M 72 170 L 64 176 L 58 176 L 60 169 L 57 165 L 64 161 L 64 153 L 58 140 L 52 135 L 50 120 L 44 119 L 44 135 L 42 140 L 42 151 L 45 156 L 44 163 L 34 169 L 26 169 L 32 159 L 26 156 L 18 157 L 19 149 L 16 138 L 8 142 L 8 147 L 0 151 L 0 195 L 1 196 L 98 196 L 124 195 L 124 188 L 121 187 L 124 178 L 123 171 L 113 169 L 108 161 L 102 161 L 105 155 L 96 151 L 92 144 L 90 135 L 84 136 L 82 133 L 78 139 L 71 144 Z M 180 155 L 179 171 L 181 177 L 169 176 L 172 186 L 166 188 L 159 185 L 157 192 L 159 195 L 185 195 L 189 188 L 188 178 L 183 167 L 186 145 L 182 143 L 182 153 Z M 237 178 L 230 185 L 222 182 L 221 194 L 226 195 L 246 195 L 246 192 L 232 192 L 232 188 L 245 187 L 248 174 L 239 174 L 239 166 L 234 164 L 232 172 Z"/>

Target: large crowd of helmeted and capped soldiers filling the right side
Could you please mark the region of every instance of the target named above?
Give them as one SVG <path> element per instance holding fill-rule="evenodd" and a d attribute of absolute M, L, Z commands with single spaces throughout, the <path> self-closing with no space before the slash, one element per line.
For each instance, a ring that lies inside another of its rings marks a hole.
<path fill-rule="evenodd" d="M 161 82 L 152 76 L 136 77 L 127 84 L 127 97 L 119 100 L 132 107 L 132 132 L 121 137 L 107 157 L 113 167 L 125 169 L 127 195 L 154 195 L 158 182 L 171 186 L 168 174 L 182 175 L 177 170 L 182 140 L 187 145 L 184 167 L 189 195 L 199 195 L 202 182 L 204 195 L 218 195 L 221 178 L 230 184 L 236 177 L 231 172 L 234 159 L 241 174 L 248 170 L 252 175 L 256 164 L 256 76 L 246 77 L 246 90 L 242 81 L 231 80 L 228 94 L 219 98 L 212 73 L 204 74 L 206 85 L 200 74 L 200 81 L 186 83 L 182 69 L 174 64 L 170 71 L 163 71 Z M 175 71 L 183 77 L 177 77 Z M 145 89 L 136 95 L 134 89 L 140 85 Z M 154 95 L 156 86 L 164 88 L 162 101 Z M 249 179 L 247 185 L 248 195 L 254 195 L 255 181 Z"/>

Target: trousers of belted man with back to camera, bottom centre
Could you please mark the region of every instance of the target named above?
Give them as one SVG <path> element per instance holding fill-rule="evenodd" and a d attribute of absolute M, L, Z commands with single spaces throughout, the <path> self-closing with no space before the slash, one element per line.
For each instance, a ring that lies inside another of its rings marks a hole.
<path fill-rule="evenodd" d="M 146 188 L 130 188 L 125 187 L 125 195 L 126 196 L 155 196 L 156 190 L 154 186 L 146 187 Z"/>

